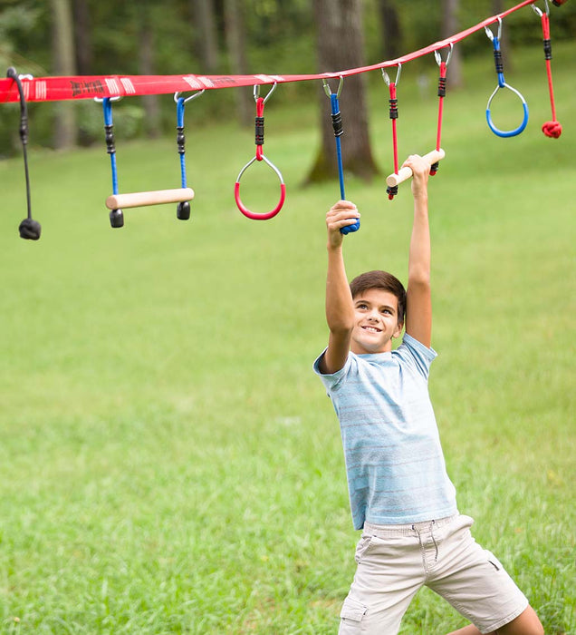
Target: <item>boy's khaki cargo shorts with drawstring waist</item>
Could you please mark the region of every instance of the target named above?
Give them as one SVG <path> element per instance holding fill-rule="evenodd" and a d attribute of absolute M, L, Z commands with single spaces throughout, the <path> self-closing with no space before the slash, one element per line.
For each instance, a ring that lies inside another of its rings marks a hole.
<path fill-rule="evenodd" d="M 483 633 L 514 620 L 528 601 L 493 553 L 475 542 L 473 523 L 463 515 L 407 525 L 366 523 L 339 634 L 395 635 L 423 585 Z"/>

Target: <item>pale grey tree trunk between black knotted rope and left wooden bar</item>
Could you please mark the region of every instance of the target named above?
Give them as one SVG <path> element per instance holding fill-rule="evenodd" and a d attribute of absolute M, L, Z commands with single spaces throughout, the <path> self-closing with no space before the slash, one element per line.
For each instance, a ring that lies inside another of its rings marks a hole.
<path fill-rule="evenodd" d="M 75 75 L 74 31 L 70 0 L 51 0 L 53 72 L 56 75 Z M 54 138 L 56 150 L 76 145 L 76 112 L 74 104 L 61 102 L 54 109 Z"/>

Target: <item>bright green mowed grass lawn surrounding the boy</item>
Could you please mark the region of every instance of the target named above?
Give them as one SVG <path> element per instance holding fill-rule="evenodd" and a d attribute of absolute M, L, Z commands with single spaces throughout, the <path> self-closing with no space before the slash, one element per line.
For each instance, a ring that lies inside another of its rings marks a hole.
<path fill-rule="evenodd" d="M 466 88 L 446 97 L 446 161 L 430 181 L 439 352 L 430 389 L 448 470 L 476 539 L 554 635 L 576 633 L 575 53 L 554 48 L 559 140 L 539 130 L 551 118 L 540 46 L 518 52 L 506 76 L 531 108 L 514 139 L 485 124 L 491 55 L 469 64 Z M 434 146 L 436 74 L 430 61 L 425 97 L 403 70 L 402 155 Z M 103 142 L 63 154 L 33 147 L 43 236 L 24 241 L 22 162 L 0 163 L 2 632 L 337 630 L 358 535 L 338 424 L 311 366 L 327 337 L 324 213 L 338 185 L 302 189 L 317 105 L 283 104 L 282 91 L 266 111 L 264 151 L 288 189 L 274 220 L 235 208 L 253 133 L 196 121 L 194 103 L 189 222 L 175 206 L 126 210 L 124 229 L 111 230 Z M 497 103 L 494 121 L 515 127 L 518 103 Z M 15 112 L 6 116 L 15 131 Z M 405 280 L 412 205 L 408 185 L 393 202 L 385 194 L 388 93 L 378 78 L 370 122 L 382 174 L 347 179 L 362 212 L 346 239 L 349 274 L 385 268 Z M 173 139 L 119 142 L 118 163 L 122 191 L 178 186 Z M 242 187 L 254 210 L 275 205 L 263 165 Z M 402 633 L 464 623 L 425 590 Z"/>

